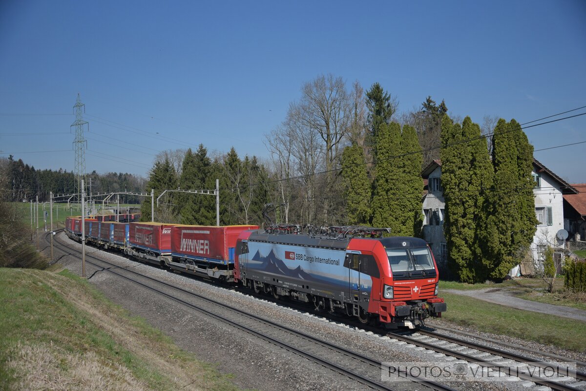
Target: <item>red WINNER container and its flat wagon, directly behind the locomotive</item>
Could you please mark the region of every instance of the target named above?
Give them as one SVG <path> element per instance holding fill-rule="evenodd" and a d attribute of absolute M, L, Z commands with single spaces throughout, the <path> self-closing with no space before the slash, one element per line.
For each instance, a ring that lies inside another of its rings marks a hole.
<path fill-rule="evenodd" d="M 172 269 L 233 281 L 234 248 L 243 231 L 258 225 L 175 225 L 171 228 Z"/>

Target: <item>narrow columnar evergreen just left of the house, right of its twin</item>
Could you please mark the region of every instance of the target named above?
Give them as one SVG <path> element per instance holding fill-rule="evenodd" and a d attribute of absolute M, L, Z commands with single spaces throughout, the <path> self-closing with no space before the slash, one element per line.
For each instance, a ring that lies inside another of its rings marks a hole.
<path fill-rule="evenodd" d="M 401 133 L 401 169 L 404 184 L 404 210 L 407 211 L 402 224 L 407 235 L 420 236 L 423 226 L 423 178 L 421 178 L 421 146 L 417 140 L 415 129 L 403 126 Z"/>

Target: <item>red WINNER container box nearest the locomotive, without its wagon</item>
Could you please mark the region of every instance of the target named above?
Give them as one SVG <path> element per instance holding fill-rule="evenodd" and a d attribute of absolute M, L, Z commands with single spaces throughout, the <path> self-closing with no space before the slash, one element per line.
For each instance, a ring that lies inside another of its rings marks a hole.
<path fill-rule="evenodd" d="M 258 229 L 258 225 L 176 225 L 171 228 L 173 255 L 233 260 L 236 239 L 240 232 L 248 229 Z"/>

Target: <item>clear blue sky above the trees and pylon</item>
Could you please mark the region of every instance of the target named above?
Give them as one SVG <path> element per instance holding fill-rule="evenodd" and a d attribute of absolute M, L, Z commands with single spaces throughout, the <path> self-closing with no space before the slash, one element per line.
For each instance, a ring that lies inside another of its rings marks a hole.
<path fill-rule="evenodd" d="M 156 151 L 199 143 L 267 156 L 263 134 L 327 73 L 379 82 L 399 111 L 431 95 L 480 124 L 533 121 L 586 105 L 586 2 L 2 0 L 0 156 L 73 170 L 78 92 L 88 172 L 146 175 Z M 535 149 L 585 131 L 586 115 L 526 130 Z M 39 132 L 67 133 L 23 134 Z M 585 151 L 535 157 L 586 183 Z"/>

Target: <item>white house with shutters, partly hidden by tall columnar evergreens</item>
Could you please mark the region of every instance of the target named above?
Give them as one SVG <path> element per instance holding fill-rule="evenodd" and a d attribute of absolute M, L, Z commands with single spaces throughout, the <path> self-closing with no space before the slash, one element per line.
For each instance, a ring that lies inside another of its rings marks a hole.
<path fill-rule="evenodd" d="M 535 181 L 535 216 L 539 224 L 530 247 L 534 263 L 540 267 L 547 245 L 554 248 L 555 257 L 563 256 L 564 241 L 556 235 L 564 228 L 563 194 L 577 194 L 578 191 L 536 159 L 533 159 L 532 175 Z M 441 186 L 441 161 L 434 160 L 428 164 L 421 176 L 426 183 L 423 195 L 423 238 L 430 243 L 438 267 L 448 272 L 443 227 L 445 200 Z"/>

